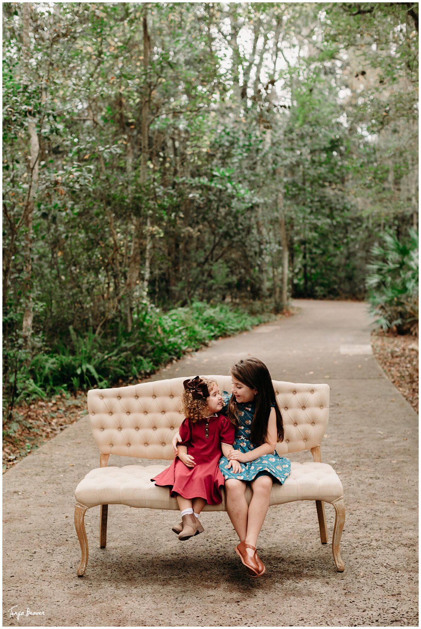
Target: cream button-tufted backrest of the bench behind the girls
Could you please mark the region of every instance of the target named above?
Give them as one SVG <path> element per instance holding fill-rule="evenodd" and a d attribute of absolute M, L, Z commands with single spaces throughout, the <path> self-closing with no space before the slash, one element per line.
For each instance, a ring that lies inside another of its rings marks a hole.
<path fill-rule="evenodd" d="M 206 377 L 215 379 L 221 391 L 231 391 L 230 376 Z M 185 379 L 88 391 L 87 409 L 99 452 L 171 460 L 172 437 L 184 420 L 180 396 Z M 284 441 L 276 447 L 279 454 L 320 445 L 329 415 L 328 385 L 272 382 L 285 428 Z"/>

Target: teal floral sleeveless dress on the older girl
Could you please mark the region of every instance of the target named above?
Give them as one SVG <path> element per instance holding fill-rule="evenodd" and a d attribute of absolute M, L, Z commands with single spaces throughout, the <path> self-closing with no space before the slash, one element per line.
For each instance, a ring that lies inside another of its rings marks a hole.
<path fill-rule="evenodd" d="M 227 412 L 227 405 L 231 395 L 227 391 L 222 391 L 222 398 L 225 406 L 222 413 Z M 238 404 L 240 426 L 235 430 L 235 440 L 233 448 L 240 452 L 250 452 L 255 449 L 255 445 L 250 442 L 250 426 L 252 425 L 254 415 L 254 402 L 245 402 Z M 285 457 L 280 457 L 276 450 L 273 454 L 264 454 L 254 461 L 247 463 L 240 462 L 242 472 L 234 474 L 232 467 L 228 467 L 227 457 L 221 457 L 219 460 L 219 469 L 221 470 L 225 480 L 230 478 L 239 479 L 240 481 L 253 481 L 258 474 L 268 474 L 277 481 L 284 483 L 291 474 L 291 461 Z"/>

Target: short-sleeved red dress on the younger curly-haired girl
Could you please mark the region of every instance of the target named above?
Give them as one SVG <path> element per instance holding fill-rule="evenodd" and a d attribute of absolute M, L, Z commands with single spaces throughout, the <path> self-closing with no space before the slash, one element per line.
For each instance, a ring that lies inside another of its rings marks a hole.
<path fill-rule="evenodd" d="M 167 469 L 150 480 L 159 486 L 169 485 L 172 498 L 179 494 L 183 498 L 205 498 L 208 504 L 221 504 L 221 487 L 225 484 L 219 469 L 221 443 L 232 445 L 234 432 L 225 415 L 194 422 L 185 419 L 179 428 L 182 441 L 177 445 L 187 447 L 196 465 L 187 467 L 176 457 Z"/>

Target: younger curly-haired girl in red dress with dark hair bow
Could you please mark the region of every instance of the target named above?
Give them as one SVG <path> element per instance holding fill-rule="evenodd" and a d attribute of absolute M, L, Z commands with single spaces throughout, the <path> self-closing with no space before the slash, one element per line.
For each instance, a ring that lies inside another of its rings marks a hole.
<path fill-rule="evenodd" d="M 177 443 L 177 458 L 152 481 L 169 486 L 170 495 L 176 496 L 181 511 L 181 523 L 172 530 L 179 540 L 188 540 L 203 533 L 199 514 L 205 504 L 221 504 L 221 487 L 225 479 L 219 469 L 223 454 L 233 451 L 234 426 L 221 415 L 223 401 L 218 384 L 196 376 L 183 382 L 182 412 L 186 419 L 179 428 L 181 442 Z M 239 461 L 230 460 L 230 467 L 240 472 Z"/>

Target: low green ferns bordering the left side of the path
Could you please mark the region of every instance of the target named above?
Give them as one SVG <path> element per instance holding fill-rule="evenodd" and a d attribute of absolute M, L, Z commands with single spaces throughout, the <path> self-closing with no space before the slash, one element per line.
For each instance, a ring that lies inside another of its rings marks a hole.
<path fill-rule="evenodd" d="M 248 315 L 225 304 L 196 301 L 167 313 L 149 306 L 135 318 L 130 333 L 119 325 L 114 336 L 98 337 L 92 330 L 77 334 L 69 326 L 69 342 L 36 353 L 27 366 L 22 365 L 22 357 L 16 357 L 16 365 L 21 365 L 16 372 L 14 404 L 140 379 L 213 338 L 249 330 L 270 318 Z M 14 386 L 14 376 L 11 382 Z"/>

